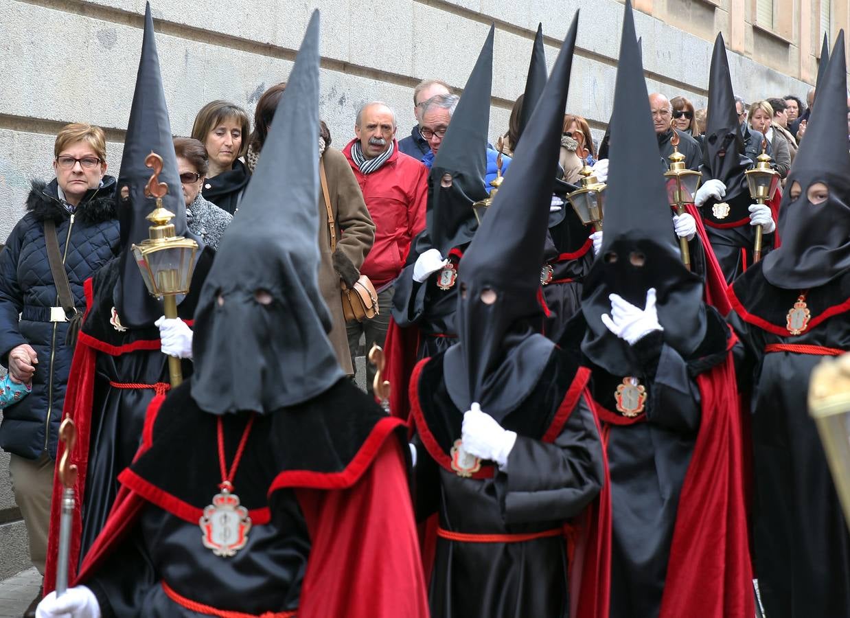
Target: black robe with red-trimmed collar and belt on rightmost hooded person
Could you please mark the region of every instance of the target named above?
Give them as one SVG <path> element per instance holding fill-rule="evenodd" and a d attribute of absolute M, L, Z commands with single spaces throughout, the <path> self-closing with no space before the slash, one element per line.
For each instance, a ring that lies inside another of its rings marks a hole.
<path fill-rule="evenodd" d="M 850 535 L 807 396 L 826 355 L 818 347 L 850 350 L 850 273 L 808 291 L 811 321 L 793 336 L 786 316 L 801 292 L 771 286 L 756 264 L 730 294 L 752 412 L 756 575 L 771 618 L 840 618 L 850 616 Z M 767 349 L 777 344 L 815 347 Z"/>

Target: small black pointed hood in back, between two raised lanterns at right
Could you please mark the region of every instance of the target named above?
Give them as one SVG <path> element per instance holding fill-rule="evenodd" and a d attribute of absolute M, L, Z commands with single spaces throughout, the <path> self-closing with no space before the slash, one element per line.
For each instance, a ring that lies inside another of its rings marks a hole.
<path fill-rule="evenodd" d="M 711 54 L 708 77 L 708 117 L 703 150 L 703 182 L 717 179 L 726 185 L 725 201 L 733 200 L 747 189 L 744 172 L 752 162 L 744 156 L 744 138 L 740 133 L 738 112 L 723 35 L 717 34 Z"/>

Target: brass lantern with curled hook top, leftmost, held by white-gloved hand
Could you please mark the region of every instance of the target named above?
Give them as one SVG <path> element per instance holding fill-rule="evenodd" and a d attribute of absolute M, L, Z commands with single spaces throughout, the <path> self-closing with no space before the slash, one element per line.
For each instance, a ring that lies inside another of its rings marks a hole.
<path fill-rule="evenodd" d="M 149 229 L 150 237 L 139 245 L 133 245 L 133 256 L 136 264 L 139 264 L 144 285 L 150 295 L 162 300 L 167 318 L 176 318 L 177 296 L 189 292 L 198 243 L 175 235 L 174 224 L 170 223 L 174 213 L 162 207 L 162 197 L 167 194 L 168 186 L 159 182 L 161 156 L 151 152 L 144 160 L 144 165 L 154 169 L 154 174 L 144 188 L 144 195 L 156 197 L 156 208 L 146 217 L 153 224 Z M 183 370 L 178 358 L 168 357 L 168 374 L 173 387 L 183 382 Z"/>

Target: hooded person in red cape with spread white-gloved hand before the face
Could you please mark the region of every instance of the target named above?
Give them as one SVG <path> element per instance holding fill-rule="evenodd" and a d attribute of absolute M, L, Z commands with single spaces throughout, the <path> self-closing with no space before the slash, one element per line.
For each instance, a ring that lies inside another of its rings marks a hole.
<path fill-rule="evenodd" d="M 666 231 L 649 104 L 634 96 L 645 91 L 626 3 L 604 241 L 561 343 L 592 373 L 608 456 L 609 615 L 744 618 L 755 609 L 731 332 Z"/>

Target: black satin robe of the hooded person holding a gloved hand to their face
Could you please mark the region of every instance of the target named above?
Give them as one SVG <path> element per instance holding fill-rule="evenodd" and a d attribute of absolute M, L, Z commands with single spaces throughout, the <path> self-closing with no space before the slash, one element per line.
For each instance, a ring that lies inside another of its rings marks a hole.
<path fill-rule="evenodd" d="M 706 308 L 708 329 L 694 357 L 683 359 L 661 332 L 633 350 L 643 372 L 643 411 L 629 418 L 615 394 L 625 376 L 594 365 L 590 391 L 606 441 L 611 487 L 611 618 L 652 618 L 660 613 L 679 496 L 700 430 L 700 389 L 695 377 L 726 360 L 728 328 Z M 570 323 L 568 349 L 578 349 L 582 315 Z M 624 343 L 625 344 L 625 343 Z"/>

